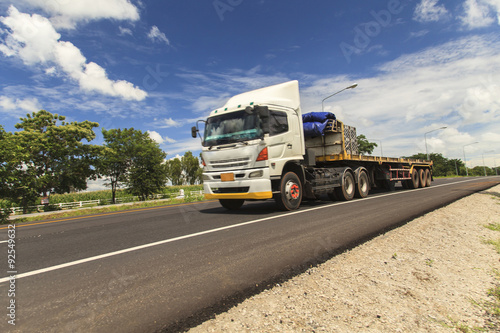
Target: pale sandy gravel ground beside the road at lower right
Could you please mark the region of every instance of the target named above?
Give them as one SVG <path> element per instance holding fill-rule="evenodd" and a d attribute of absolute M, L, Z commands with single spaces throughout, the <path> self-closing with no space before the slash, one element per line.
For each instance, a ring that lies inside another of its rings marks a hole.
<path fill-rule="evenodd" d="M 190 332 L 500 331 L 500 185 L 415 219 L 255 295 Z M 469 329 L 469 330 L 467 330 Z"/>

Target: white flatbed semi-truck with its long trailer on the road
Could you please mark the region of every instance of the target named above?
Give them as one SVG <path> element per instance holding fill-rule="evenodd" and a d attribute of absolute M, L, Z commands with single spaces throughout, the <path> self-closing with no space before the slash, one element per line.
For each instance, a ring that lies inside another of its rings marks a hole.
<path fill-rule="evenodd" d="M 430 186 L 432 162 L 360 155 L 356 129 L 329 118 L 319 135 L 304 133 L 298 81 L 232 97 L 201 121 L 203 137 L 200 121 L 192 128 L 202 138 L 205 197 L 229 210 L 271 198 L 294 210 L 324 194 L 351 200 L 398 181 L 405 188 Z"/>

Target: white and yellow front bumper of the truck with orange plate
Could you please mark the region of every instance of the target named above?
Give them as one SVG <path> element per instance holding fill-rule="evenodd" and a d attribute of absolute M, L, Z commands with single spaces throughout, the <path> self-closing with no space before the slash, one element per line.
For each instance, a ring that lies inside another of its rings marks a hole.
<path fill-rule="evenodd" d="M 226 178 L 224 174 L 226 177 L 233 174 L 230 179 L 234 180 L 222 181 Z M 203 189 L 206 199 L 263 200 L 273 197 L 268 168 L 205 172 Z"/>

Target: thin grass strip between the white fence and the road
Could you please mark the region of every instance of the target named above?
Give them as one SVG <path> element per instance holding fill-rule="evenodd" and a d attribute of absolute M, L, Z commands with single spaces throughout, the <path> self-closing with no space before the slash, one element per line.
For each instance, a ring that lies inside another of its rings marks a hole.
<path fill-rule="evenodd" d="M 158 207 L 158 206 L 166 206 L 166 205 L 178 205 L 189 202 L 199 202 L 203 201 L 203 196 L 186 196 L 184 199 L 171 199 L 171 200 L 155 200 L 155 201 L 142 201 L 134 204 L 127 205 L 108 205 L 101 206 L 96 208 L 86 208 L 86 209 L 73 209 L 67 211 L 59 211 L 54 212 L 53 214 L 43 214 L 38 216 L 29 216 L 29 217 L 21 217 L 15 220 L 10 220 L 7 223 L 26 223 L 33 221 L 41 221 L 41 220 L 52 220 L 52 219 L 60 219 L 65 217 L 74 217 L 74 216 L 82 216 L 82 215 L 91 215 L 91 214 L 99 214 L 99 213 L 108 213 L 108 212 L 117 212 L 124 210 L 133 210 L 139 208 L 148 208 L 148 207 Z"/>

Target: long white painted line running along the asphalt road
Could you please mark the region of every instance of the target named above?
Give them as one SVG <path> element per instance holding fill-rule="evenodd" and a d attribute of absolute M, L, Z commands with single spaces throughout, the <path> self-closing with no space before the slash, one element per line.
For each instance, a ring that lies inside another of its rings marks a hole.
<path fill-rule="evenodd" d="M 55 265 L 55 266 L 51 266 L 51 267 L 47 267 L 47 268 L 38 269 L 38 270 L 35 270 L 35 271 L 18 274 L 18 275 L 16 275 L 16 280 L 24 278 L 24 277 L 28 277 L 28 276 L 33 276 L 33 275 L 38 275 L 38 274 L 42 274 L 42 273 L 47 273 L 47 272 L 55 271 L 55 270 L 61 269 L 61 268 L 71 267 L 71 266 L 80 265 L 80 264 L 83 264 L 83 263 L 87 263 L 87 262 L 91 262 L 91 261 L 95 261 L 95 260 L 99 260 L 99 259 L 104 259 L 104 258 L 116 256 L 116 255 L 123 254 L 123 253 L 138 251 L 138 250 L 146 249 L 146 248 L 153 247 L 153 246 L 158 246 L 158 245 L 163 245 L 163 244 L 168 244 L 168 243 L 176 242 L 176 241 L 183 240 L 183 239 L 188 239 L 188 238 L 198 237 L 198 236 L 202 236 L 202 235 L 212 234 L 212 233 L 223 231 L 223 230 L 239 228 L 239 227 L 243 227 L 245 225 L 260 223 L 260 222 L 269 221 L 269 220 L 273 220 L 273 219 L 279 219 L 279 218 L 287 217 L 287 216 L 290 216 L 290 215 L 304 214 L 304 213 L 311 212 L 311 211 L 314 211 L 314 210 L 330 208 L 330 207 L 333 207 L 333 206 L 349 205 L 349 204 L 352 204 L 352 203 L 360 202 L 362 200 L 375 200 L 375 199 L 378 199 L 378 198 L 388 197 L 388 196 L 392 196 L 392 195 L 408 194 L 408 193 L 412 193 L 414 191 L 432 190 L 432 189 L 438 188 L 438 187 L 450 186 L 450 185 L 460 184 L 460 183 L 466 183 L 466 182 L 470 182 L 470 181 L 474 181 L 474 180 L 476 180 L 476 179 L 468 179 L 468 180 L 464 180 L 464 181 L 460 181 L 460 182 L 456 182 L 456 183 L 451 183 L 451 184 L 442 184 L 442 185 L 436 185 L 436 186 L 431 186 L 431 187 L 424 187 L 424 188 L 419 188 L 419 189 L 415 189 L 415 190 L 412 190 L 412 191 L 402 191 L 402 192 L 395 192 L 395 193 L 393 192 L 393 193 L 388 193 L 388 194 L 382 194 L 382 195 L 377 195 L 377 196 L 373 196 L 373 197 L 364 198 L 364 199 L 361 199 L 361 200 L 358 199 L 358 200 L 354 200 L 354 201 L 337 202 L 337 203 L 333 203 L 333 204 L 330 204 L 330 205 L 325 205 L 325 206 L 320 206 L 320 207 L 314 207 L 314 208 L 309 208 L 309 209 L 305 209 L 305 210 L 296 210 L 296 211 L 293 211 L 293 212 L 290 212 L 290 213 L 287 213 L 287 214 L 282 214 L 282 215 L 277 215 L 277 216 L 270 216 L 270 217 L 264 217 L 264 218 L 253 220 L 253 221 L 242 222 L 242 223 L 233 224 L 233 225 L 229 225 L 229 226 L 225 226 L 225 227 L 220 227 L 220 228 L 205 230 L 205 231 L 201 231 L 201 232 L 196 232 L 194 234 L 189 234 L 189 235 L 179 236 L 179 237 L 175 237 L 175 238 L 165 239 L 165 240 L 154 242 L 154 243 L 149 243 L 149 244 L 134 246 L 134 247 L 131 247 L 131 248 L 128 248 L 128 249 L 120 250 L 120 251 L 109 252 L 109 253 L 101 254 L 101 255 L 98 255 L 98 256 L 94 256 L 94 257 L 89 257 L 89 258 L 85 258 L 85 259 L 80 259 L 80 260 L 68 262 L 68 263 L 65 263 L 65 264 L 60 264 L 60 265 Z M 9 277 L 0 279 L 0 283 L 7 282 L 7 281 L 9 281 Z"/>

